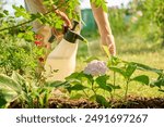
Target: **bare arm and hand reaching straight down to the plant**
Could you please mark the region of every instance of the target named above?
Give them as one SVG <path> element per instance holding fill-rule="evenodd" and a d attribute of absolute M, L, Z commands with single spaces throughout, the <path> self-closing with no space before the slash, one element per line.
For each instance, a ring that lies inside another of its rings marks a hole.
<path fill-rule="evenodd" d="M 91 3 L 93 15 L 98 26 L 101 41 L 103 46 L 107 46 L 112 55 L 116 54 L 116 46 L 114 36 L 112 34 L 110 25 L 108 22 L 107 13 L 102 9 L 97 8 L 94 3 Z"/>

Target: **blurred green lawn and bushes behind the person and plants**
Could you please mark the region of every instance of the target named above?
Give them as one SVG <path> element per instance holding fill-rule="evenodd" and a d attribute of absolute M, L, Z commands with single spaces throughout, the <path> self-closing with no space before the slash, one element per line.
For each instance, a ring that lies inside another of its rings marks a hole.
<path fill-rule="evenodd" d="M 99 35 L 90 9 L 82 11 L 86 26 L 82 35 L 87 38 L 89 47 L 80 43 L 78 51 L 77 71 L 84 68 L 89 55 L 106 60 L 99 48 Z M 115 36 L 117 56 L 164 69 L 164 1 L 163 0 L 131 0 L 128 5 L 108 9 L 108 18 Z M 110 74 L 113 75 L 113 74 Z M 150 79 L 156 75 L 149 73 Z M 117 84 L 124 84 L 118 77 Z M 142 97 L 163 97 L 155 88 L 140 86 L 136 82 L 129 86 L 129 93 Z M 118 94 L 121 94 L 119 92 Z"/>

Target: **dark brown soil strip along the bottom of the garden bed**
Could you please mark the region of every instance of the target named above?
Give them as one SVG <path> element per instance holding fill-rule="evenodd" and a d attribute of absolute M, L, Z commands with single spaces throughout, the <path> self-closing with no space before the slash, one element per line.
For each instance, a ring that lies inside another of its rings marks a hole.
<path fill-rule="evenodd" d="M 19 103 L 12 102 L 10 109 L 21 107 Z M 49 99 L 49 109 L 103 109 L 102 105 L 84 99 Z M 126 102 L 114 100 L 109 109 L 164 109 L 164 98 L 128 97 Z"/>

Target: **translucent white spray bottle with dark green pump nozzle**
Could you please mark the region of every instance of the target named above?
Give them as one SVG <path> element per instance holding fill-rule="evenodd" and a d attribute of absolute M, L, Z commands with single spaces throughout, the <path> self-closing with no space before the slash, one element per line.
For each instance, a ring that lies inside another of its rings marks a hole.
<path fill-rule="evenodd" d="M 48 80 L 65 80 L 65 78 L 71 75 L 75 69 L 77 39 L 84 41 L 84 38 L 74 33 L 78 22 L 73 22 L 74 26 L 72 29 L 68 29 L 65 34 L 60 43 L 50 52 L 46 60 L 45 69 L 46 73 L 50 74 Z"/>

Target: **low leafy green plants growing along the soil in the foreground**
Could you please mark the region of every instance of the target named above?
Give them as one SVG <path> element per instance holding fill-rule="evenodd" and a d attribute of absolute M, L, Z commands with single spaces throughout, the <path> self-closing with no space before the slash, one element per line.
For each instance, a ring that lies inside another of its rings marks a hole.
<path fill-rule="evenodd" d="M 92 61 L 92 59 L 90 58 Z M 87 61 L 89 62 L 89 61 Z M 0 94 L 1 107 L 8 107 L 10 102 L 17 100 L 22 107 L 47 107 L 50 92 L 54 88 L 65 87 L 71 94 L 71 99 L 85 98 L 95 101 L 104 107 L 110 107 L 110 101 L 115 97 L 115 91 L 120 88 L 116 84 L 116 75 L 110 76 L 112 72 L 121 75 L 125 78 L 125 97 L 127 101 L 128 88 L 131 81 L 138 81 L 141 85 L 157 87 L 160 91 L 164 91 L 164 73 L 163 69 L 150 67 L 136 62 L 122 61 L 118 58 L 110 58 L 108 61 L 108 71 L 110 73 L 91 75 L 84 71 L 75 72 L 66 78 L 66 81 L 37 82 L 25 80 L 21 75 L 13 72 L 12 76 L 0 75 Z M 148 75 L 137 75 L 137 71 L 152 72 L 159 75 L 156 80 L 150 80 Z M 118 75 L 117 75 L 118 76 Z M 113 78 L 113 81 L 112 81 Z M 103 91 L 103 92 L 102 92 Z M 110 99 L 108 96 L 110 94 Z"/>

